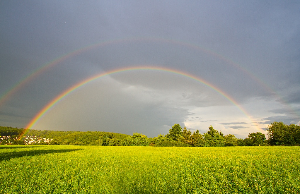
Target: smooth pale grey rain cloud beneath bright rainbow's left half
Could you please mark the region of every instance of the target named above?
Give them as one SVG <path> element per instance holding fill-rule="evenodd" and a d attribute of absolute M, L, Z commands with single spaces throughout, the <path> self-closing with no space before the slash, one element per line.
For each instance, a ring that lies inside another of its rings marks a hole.
<path fill-rule="evenodd" d="M 167 134 L 173 124 L 183 121 L 188 109 L 144 93 L 147 88 L 133 87 L 113 80 L 92 83 L 74 91 L 53 107 L 36 125 L 53 130 L 101 130 L 116 133 L 143 133 L 149 137 Z M 98 83 L 98 84 L 97 84 Z M 86 95 L 88 94 L 88 95 Z M 52 121 L 52 122 L 51 122 Z"/>

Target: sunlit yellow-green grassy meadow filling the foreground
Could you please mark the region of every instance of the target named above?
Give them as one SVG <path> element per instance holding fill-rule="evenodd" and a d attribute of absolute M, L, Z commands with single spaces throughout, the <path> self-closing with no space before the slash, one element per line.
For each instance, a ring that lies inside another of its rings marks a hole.
<path fill-rule="evenodd" d="M 0 193 L 300 193 L 299 147 L 0 146 Z"/>

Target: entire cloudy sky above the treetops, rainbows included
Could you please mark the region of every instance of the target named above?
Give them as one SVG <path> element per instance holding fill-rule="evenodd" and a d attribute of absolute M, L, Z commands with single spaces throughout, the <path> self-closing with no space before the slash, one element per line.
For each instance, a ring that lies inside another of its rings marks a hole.
<path fill-rule="evenodd" d="M 0 1 L 0 126 L 155 137 L 173 124 L 202 134 L 212 125 L 244 139 L 273 121 L 299 125 L 299 10 L 299 1 Z"/>

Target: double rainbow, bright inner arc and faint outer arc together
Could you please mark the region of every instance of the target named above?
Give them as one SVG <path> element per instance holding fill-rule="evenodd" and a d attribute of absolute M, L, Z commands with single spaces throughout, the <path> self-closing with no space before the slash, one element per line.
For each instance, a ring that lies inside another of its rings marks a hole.
<path fill-rule="evenodd" d="M 214 56 L 215 58 L 220 59 L 221 61 L 225 61 L 226 64 L 229 64 L 235 68 L 237 68 L 238 70 L 240 70 L 242 73 L 244 73 L 245 75 L 249 76 L 250 78 L 252 78 L 253 80 L 256 81 L 256 83 L 258 83 L 259 85 L 261 85 L 262 87 L 264 87 L 267 91 L 269 91 L 270 93 L 276 94 L 276 92 L 274 92 L 265 82 L 263 82 L 261 79 L 259 79 L 258 77 L 256 77 L 255 75 L 253 75 L 253 73 L 249 72 L 248 70 L 246 70 L 244 67 L 241 67 L 239 64 L 233 62 L 232 60 L 216 53 L 213 52 L 209 49 L 203 48 L 203 47 L 199 47 L 196 45 L 193 45 L 191 43 L 186 43 L 186 42 L 182 42 L 182 41 L 178 41 L 178 40 L 170 40 L 170 39 L 164 39 L 164 38 L 156 38 L 156 37 L 133 37 L 133 38 L 123 38 L 123 39 L 118 39 L 118 40 L 109 40 L 109 41 L 105 41 L 105 42 L 100 42 L 100 43 L 94 43 L 94 44 L 90 44 L 84 47 L 81 47 L 79 49 L 73 50 L 71 52 L 68 52 L 64 55 L 61 55 L 58 58 L 55 58 L 54 60 L 50 61 L 47 64 L 44 64 L 43 66 L 41 66 L 40 68 L 36 69 L 35 71 L 33 71 L 32 73 L 30 73 L 29 75 L 27 75 L 26 77 L 24 77 L 22 80 L 20 80 L 19 82 L 17 82 L 15 85 L 13 85 L 13 87 L 11 87 L 9 90 L 7 90 L 6 92 L 4 92 L 4 94 L 2 94 L 0 96 L 0 106 L 4 103 L 5 100 L 9 99 L 9 97 L 11 97 L 18 89 L 22 88 L 22 86 L 24 86 L 26 83 L 29 83 L 31 80 L 33 80 L 35 77 L 37 77 L 38 75 L 40 75 L 41 73 L 45 72 L 47 69 L 49 69 L 50 67 L 54 67 L 55 65 L 59 64 L 60 62 L 66 60 L 67 58 L 70 58 L 72 56 L 78 55 L 82 52 L 88 51 L 90 49 L 94 49 L 94 48 L 98 48 L 101 46 L 109 46 L 109 45 L 113 45 L 113 44 L 118 44 L 118 43 L 127 43 L 127 42 L 142 42 L 142 41 L 149 41 L 149 42 L 159 42 L 159 43 L 170 43 L 170 44 L 175 44 L 175 45 L 181 45 L 181 46 L 185 46 L 188 48 L 192 48 L 195 50 L 198 50 L 199 52 L 204 52 L 208 55 Z M 33 119 L 32 121 L 27 125 L 26 128 L 31 128 L 41 117 L 42 115 L 44 115 L 52 106 L 55 105 L 55 103 L 57 103 L 59 100 L 61 100 L 64 96 L 66 96 L 67 94 L 69 94 L 71 91 L 75 90 L 76 88 L 79 88 L 80 86 L 91 82 L 94 79 L 100 78 L 102 76 L 105 75 L 110 75 L 113 73 L 119 73 L 122 71 L 128 71 L 128 70 L 138 70 L 138 69 L 143 69 L 143 70 L 161 70 L 161 71 L 167 71 L 167 72 L 172 72 L 172 73 L 177 73 L 180 74 L 182 76 L 186 76 L 189 77 L 191 79 L 194 79 L 198 82 L 201 82 L 204 85 L 207 85 L 208 87 L 212 88 L 213 90 L 217 91 L 219 94 L 221 94 L 223 97 L 225 97 L 226 99 L 228 99 L 231 103 L 233 103 L 235 106 L 238 107 L 238 109 L 241 110 L 241 112 L 243 112 L 249 119 L 250 116 L 249 114 L 246 113 L 246 111 L 244 109 L 242 109 L 241 106 L 238 105 L 238 103 L 236 103 L 231 97 L 229 97 L 229 95 L 225 94 L 223 91 L 221 91 L 220 89 L 218 89 L 217 87 L 211 85 L 210 83 L 206 82 L 205 80 L 202 80 L 196 76 L 193 76 L 191 74 L 188 73 L 183 73 L 183 72 L 179 72 L 178 70 L 172 70 L 172 69 L 167 69 L 167 68 L 162 68 L 162 67 L 128 67 L 128 68 L 122 68 L 122 69 L 116 69 L 116 70 L 111 70 L 107 73 L 101 73 L 99 75 L 93 76 L 91 78 L 85 79 L 79 83 L 77 83 L 76 85 L 73 85 L 71 88 L 67 89 L 66 91 L 64 91 L 63 93 L 61 93 L 58 97 L 56 97 L 55 99 L 53 99 L 50 103 L 48 103 Z M 278 96 L 278 95 L 277 95 Z M 279 96 L 278 96 L 279 97 Z M 279 97 L 280 99 L 282 99 L 281 97 Z M 283 101 L 283 100 L 282 100 Z M 284 103 L 284 102 L 283 102 Z M 286 103 L 285 105 L 292 111 L 295 113 L 294 110 L 292 110 L 292 108 L 290 106 L 288 106 Z M 295 113 L 297 114 L 297 113 Z M 251 120 L 251 119 L 250 119 Z M 252 121 L 253 122 L 253 121 Z M 253 122 L 254 123 L 254 122 Z M 255 125 L 255 124 L 254 124 Z"/>

